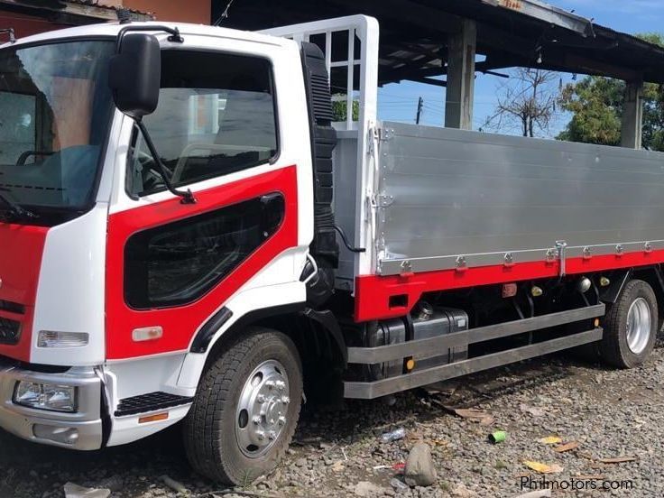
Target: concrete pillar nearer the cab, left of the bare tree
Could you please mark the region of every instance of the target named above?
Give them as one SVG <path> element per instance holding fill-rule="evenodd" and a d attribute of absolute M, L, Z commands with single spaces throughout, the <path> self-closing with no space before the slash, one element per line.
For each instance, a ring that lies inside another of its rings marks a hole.
<path fill-rule="evenodd" d="M 447 128 L 473 129 L 476 47 L 477 26 L 475 21 L 465 19 L 460 30 L 451 33 L 447 42 Z"/>

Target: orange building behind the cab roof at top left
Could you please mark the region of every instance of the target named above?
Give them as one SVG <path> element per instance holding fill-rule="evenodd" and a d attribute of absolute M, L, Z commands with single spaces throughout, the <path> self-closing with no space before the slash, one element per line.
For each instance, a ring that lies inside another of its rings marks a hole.
<path fill-rule="evenodd" d="M 0 29 L 17 37 L 91 23 L 115 21 L 127 8 L 137 21 L 209 24 L 212 0 L 0 0 Z M 4 40 L 0 40 L 3 42 Z"/>

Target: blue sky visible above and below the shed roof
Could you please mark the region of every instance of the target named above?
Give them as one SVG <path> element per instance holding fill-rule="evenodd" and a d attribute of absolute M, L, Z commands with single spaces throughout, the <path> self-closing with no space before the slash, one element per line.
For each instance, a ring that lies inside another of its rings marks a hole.
<path fill-rule="evenodd" d="M 551 5 L 620 32 L 664 33 L 664 0 L 549 0 Z M 561 75 L 563 83 L 571 82 L 571 75 Z M 475 79 L 474 128 L 478 129 L 493 115 L 496 90 L 504 84 L 503 78 L 477 74 Z M 379 119 L 384 121 L 415 122 L 418 98 L 424 99 L 423 124 L 441 125 L 445 115 L 445 88 L 412 82 L 386 85 L 378 92 Z M 568 116 L 560 115 L 551 126 L 549 137 L 555 136 L 567 123 Z M 503 133 L 508 133 L 507 130 Z M 545 135 L 546 136 L 546 135 Z"/>

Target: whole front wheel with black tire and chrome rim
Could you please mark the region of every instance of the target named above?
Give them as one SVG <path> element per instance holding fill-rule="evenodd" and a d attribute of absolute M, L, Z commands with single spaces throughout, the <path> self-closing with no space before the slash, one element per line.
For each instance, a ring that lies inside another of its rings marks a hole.
<path fill-rule="evenodd" d="M 291 339 L 248 329 L 201 378 L 184 428 L 191 466 L 235 485 L 269 473 L 291 444 L 301 400 L 302 367 Z"/>

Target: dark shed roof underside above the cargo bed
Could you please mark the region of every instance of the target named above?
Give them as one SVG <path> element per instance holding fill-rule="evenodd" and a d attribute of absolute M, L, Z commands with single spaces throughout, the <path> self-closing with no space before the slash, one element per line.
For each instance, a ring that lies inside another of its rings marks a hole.
<path fill-rule="evenodd" d="M 479 72 L 532 67 L 664 83 L 663 48 L 541 0 L 280 0 L 278 8 L 252 0 L 235 2 L 224 26 L 261 30 L 351 14 L 381 23 L 382 84 L 444 76 L 448 35 L 462 19 L 477 24 L 477 53 L 486 57 Z"/>

